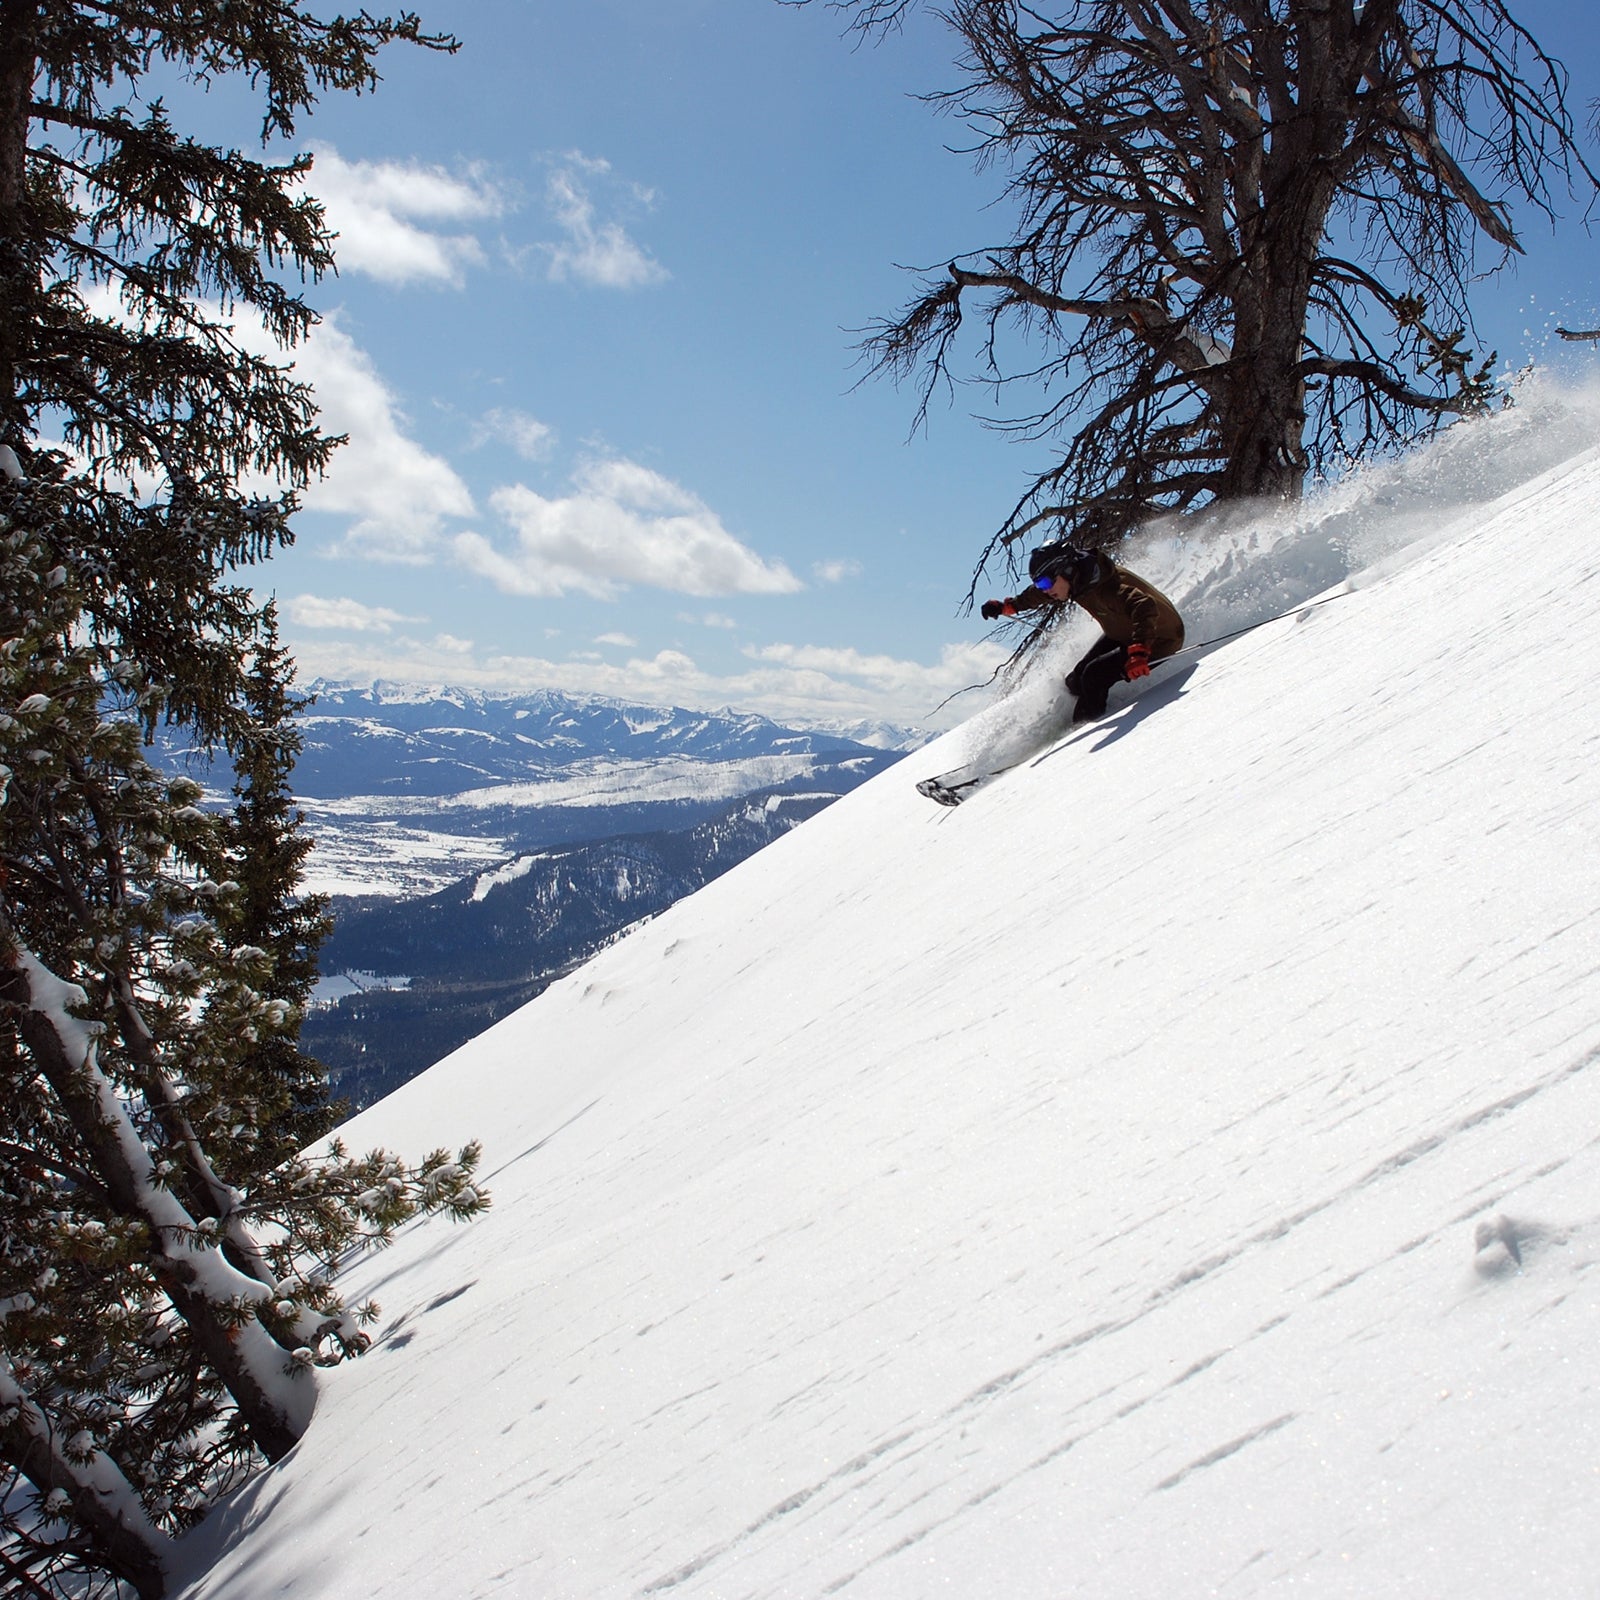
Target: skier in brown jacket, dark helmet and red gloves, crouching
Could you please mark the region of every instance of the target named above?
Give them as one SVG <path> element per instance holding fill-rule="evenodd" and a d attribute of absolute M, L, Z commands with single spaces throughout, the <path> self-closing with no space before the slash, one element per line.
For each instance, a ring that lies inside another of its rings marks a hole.
<path fill-rule="evenodd" d="M 1042 544 L 1027 558 L 1027 576 L 1032 589 L 984 602 L 986 622 L 1042 605 L 1075 603 L 1101 626 L 1101 637 L 1067 674 L 1067 693 L 1077 701 L 1074 723 L 1104 717 L 1114 683 L 1149 677 L 1152 661 L 1184 648 L 1184 619 L 1171 600 L 1101 550 L 1077 550 L 1064 539 Z"/>

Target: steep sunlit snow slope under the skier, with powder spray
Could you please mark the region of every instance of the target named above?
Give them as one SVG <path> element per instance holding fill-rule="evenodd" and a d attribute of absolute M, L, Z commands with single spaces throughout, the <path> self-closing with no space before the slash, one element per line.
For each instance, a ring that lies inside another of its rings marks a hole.
<path fill-rule="evenodd" d="M 352 1274 L 379 1344 L 187 1600 L 1597 1594 L 1565 405 L 1565 462 L 1482 424 L 1320 546 L 1157 538 L 1197 640 L 1350 581 L 922 800 L 1024 688 L 363 1114 L 480 1136 L 494 1210 Z"/>

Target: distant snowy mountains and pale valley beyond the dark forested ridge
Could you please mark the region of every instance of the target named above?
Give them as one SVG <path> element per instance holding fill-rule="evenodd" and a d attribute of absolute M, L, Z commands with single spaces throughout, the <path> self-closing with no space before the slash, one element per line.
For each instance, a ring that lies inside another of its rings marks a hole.
<path fill-rule="evenodd" d="M 432 894 L 515 854 L 691 829 L 752 794 L 840 795 L 926 739 L 554 690 L 322 680 L 309 693 L 294 771 L 317 840 L 307 888 L 339 898 Z M 158 754 L 206 776 L 181 744 Z"/>

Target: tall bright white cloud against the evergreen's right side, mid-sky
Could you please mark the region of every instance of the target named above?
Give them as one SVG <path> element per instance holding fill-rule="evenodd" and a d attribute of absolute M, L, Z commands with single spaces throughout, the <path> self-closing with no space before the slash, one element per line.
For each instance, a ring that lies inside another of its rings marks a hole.
<path fill-rule="evenodd" d="M 326 477 L 307 488 L 307 509 L 355 518 L 341 554 L 430 560 L 446 518 L 474 514 L 466 483 L 408 435 L 395 395 L 336 320 L 294 352 L 294 370 L 317 390 L 323 427 L 349 434 Z"/>

